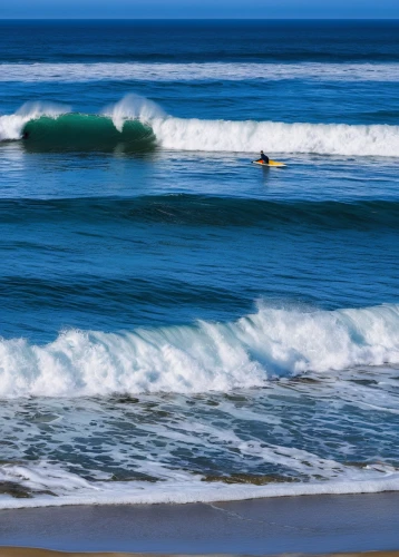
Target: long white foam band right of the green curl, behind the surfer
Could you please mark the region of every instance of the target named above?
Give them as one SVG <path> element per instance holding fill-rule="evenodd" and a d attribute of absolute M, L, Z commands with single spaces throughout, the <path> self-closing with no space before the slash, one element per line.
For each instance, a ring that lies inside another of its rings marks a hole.
<path fill-rule="evenodd" d="M 278 121 L 152 120 L 162 147 L 227 153 L 314 153 L 399 157 L 399 126 Z"/>

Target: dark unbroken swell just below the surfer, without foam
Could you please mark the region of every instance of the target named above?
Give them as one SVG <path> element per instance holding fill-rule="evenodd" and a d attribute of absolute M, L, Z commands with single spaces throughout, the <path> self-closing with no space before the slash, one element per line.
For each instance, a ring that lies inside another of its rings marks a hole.
<path fill-rule="evenodd" d="M 158 223 L 182 226 L 399 227 L 398 201 L 279 202 L 175 194 L 136 198 L 0 199 L 2 223 Z"/>

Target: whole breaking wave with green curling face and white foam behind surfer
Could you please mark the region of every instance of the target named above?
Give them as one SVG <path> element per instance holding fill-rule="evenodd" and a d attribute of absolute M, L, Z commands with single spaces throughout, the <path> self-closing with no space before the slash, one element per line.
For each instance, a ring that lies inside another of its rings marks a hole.
<path fill-rule="evenodd" d="M 399 157 L 399 126 L 228 121 L 166 116 L 147 99 L 127 96 L 103 115 L 66 114 L 30 105 L 0 117 L 0 140 L 20 139 L 27 148 L 299 153 Z"/>

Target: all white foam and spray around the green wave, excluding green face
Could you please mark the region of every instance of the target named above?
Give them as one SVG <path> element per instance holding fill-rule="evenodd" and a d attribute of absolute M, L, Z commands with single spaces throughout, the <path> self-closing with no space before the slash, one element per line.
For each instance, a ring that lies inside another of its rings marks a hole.
<path fill-rule="evenodd" d="M 19 139 L 29 120 L 56 118 L 68 111 L 65 106 L 27 102 L 16 114 L 0 117 L 0 141 Z M 127 95 L 103 114 L 119 131 L 126 120 L 143 121 L 153 128 L 158 145 L 165 149 L 399 157 L 399 126 L 174 118 L 138 95 Z"/>

